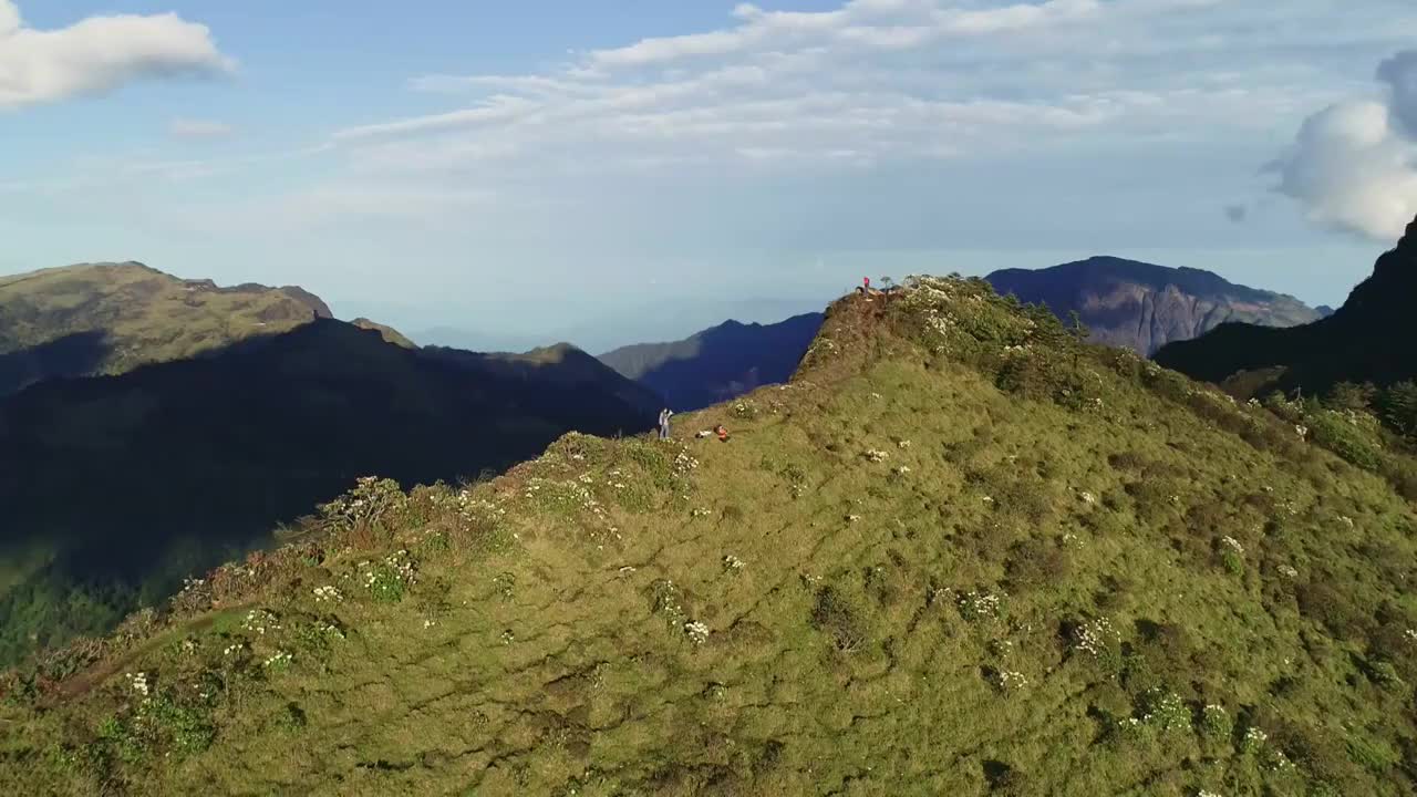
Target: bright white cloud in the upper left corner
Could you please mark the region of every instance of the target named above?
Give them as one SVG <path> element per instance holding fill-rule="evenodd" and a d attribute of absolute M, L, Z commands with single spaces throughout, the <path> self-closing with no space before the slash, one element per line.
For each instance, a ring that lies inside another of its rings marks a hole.
<path fill-rule="evenodd" d="M 89 17 L 34 30 L 0 0 L 0 109 L 102 94 L 142 78 L 220 74 L 235 67 L 211 31 L 177 14 Z"/>

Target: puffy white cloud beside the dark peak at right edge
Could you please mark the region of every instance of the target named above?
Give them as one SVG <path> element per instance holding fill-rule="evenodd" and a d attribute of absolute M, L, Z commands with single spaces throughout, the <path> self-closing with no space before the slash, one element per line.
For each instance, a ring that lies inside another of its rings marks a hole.
<path fill-rule="evenodd" d="M 1391 88 L 1386 102 L 1352 99 L 1325 108 L 1268 166 L 1280 177 L 1275 190 L 1297 200 L 1309 220 L 1394 241 L 1417 217 L 1413 55 L 1399 54 L 1379 68 Z"/>

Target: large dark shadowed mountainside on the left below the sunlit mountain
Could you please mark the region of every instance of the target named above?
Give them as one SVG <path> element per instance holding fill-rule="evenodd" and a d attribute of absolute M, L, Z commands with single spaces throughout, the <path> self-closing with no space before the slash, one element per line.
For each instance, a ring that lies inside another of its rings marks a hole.
<path fill-rule="evenodd" d="M 570 430 L 653 423 L 604 366 L 507 373 L 322 319 L 207 357 L 35 384 L 0 401 L 0 662 L 95 634 L 378 472 L 476 478 Z M 588 355 L 582 355 L 591 359 Z M 592 360 L 594 362 L 594 360 Z M 614 381 L 611 381 L 614 380 Z"/>

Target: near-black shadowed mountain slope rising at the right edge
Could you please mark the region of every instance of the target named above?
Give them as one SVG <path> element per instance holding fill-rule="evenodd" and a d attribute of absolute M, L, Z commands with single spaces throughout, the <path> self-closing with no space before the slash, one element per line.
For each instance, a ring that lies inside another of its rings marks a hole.
<path fill-rule="evenodd" d="M 1302 389 L 1321 394 L 1340 381 L 1377 387 L 1417 377 L 1417 221 L 1377 258 L 1333 315 L 1292 329 L 1226 323 L 1173 343 L 1156 362 L 1243 396 Z"/>

